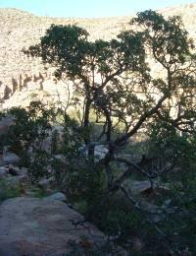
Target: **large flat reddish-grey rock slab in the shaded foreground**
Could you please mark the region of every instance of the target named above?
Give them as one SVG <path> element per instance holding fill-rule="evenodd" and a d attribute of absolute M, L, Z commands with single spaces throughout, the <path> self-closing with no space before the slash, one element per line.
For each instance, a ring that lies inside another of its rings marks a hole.
<path fill-rule="evenodd" d="M 71 241 L 101 243 L 104 234 L 67 204 L 51 199 L 19 197 L 0 205 L 1 256 L 60 256 Z M 123 255 L 123 254 L 121 254 Z"/>

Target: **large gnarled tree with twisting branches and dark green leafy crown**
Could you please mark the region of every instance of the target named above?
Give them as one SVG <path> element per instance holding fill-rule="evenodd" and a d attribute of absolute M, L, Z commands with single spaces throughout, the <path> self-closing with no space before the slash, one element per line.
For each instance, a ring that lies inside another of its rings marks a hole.
<path fill-rule="evenodd" d="M 52 25 L 40 43 L 25 51 L 55 67 L 57 78 L 72 80 L 83 96 L 81 125 L 92 156 L 95 144 L 88 129 L 94 109 L 96 122 L 102 123 L 98 143 L 109 149 L 104 160 L 108 170 L 116 150 L 153 120 L 164 120 L 183 132 L 195 129 L 194 45 L 181 19 L 166 20 L 145 11 L 130 25 L 137 31 L 121 32 L 110 41 L 89 41 L 84 29 Z M 151 72 L 149 61 L 155 62 L 160 76 Z M 123 131 L 114 137 L 119 124 Z"/>

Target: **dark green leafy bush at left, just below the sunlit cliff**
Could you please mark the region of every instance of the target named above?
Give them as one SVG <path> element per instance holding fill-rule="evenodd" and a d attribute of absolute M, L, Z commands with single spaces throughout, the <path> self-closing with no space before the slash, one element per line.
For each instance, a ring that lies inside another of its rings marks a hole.
<path fill-rule="evenodd" d="M 5 114 L 14 119 L 8 134 L 3 135 L 4 145 L 21 158 L 21 165 L 28 167 L 33 181 L 48 175 L 50 152 L 43 149 L 43 142 L 51 132 L 51 123 L 55 118 L 54 109 L 46 108 L 40 101 L 32 101 L 26 110 L 13 107 Z"/>

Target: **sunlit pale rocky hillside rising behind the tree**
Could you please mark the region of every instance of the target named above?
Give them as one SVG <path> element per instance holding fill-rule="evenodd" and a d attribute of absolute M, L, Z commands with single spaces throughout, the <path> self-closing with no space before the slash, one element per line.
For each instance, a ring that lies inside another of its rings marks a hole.
<path fill-rule="evenodd" d="M 196 39 L 196 4 L 167 8 L 165 16 L 180 15 L 190 36 Z M 65 83 L 57 83 L 52 70 L 46 72 L 40 60 L 27 58 L 22 49 L 39 41 L 51 24 L 75 24 L 90 33 L 90 39 L 110 39 L 127 29 L 130 17 L 105 19 L 61 19 L 38 17 L 17 9 L 0 9 L 0 99 L 3 107 L 27 105 L 30 97 L 64 100 Z"/>

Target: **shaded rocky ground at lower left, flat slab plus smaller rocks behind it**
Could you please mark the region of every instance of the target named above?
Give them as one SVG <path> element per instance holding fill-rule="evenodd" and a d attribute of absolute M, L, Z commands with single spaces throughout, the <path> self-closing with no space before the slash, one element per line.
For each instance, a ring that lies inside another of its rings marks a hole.
<path fill-rule="evenodd" d="M 85 251 L 104 247 L 107 239 L 73 210 L 50 180 L 35 186 L 25 168 L 0 167 L 1 256 L 86 255 Z M 106 255 L 125 255 L 122 249 L 111 250 Z"/>

